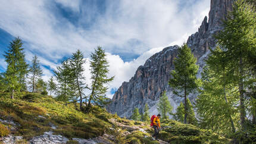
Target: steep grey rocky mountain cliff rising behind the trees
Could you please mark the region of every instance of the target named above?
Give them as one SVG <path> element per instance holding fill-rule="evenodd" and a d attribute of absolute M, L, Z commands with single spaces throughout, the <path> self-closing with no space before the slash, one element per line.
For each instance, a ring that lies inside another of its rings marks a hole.
<path fill-rule="evenodd" d="M 188 38 L 188 46 L 198 58 L 198 77 L 201 76 L 204 60 L 210 53 L 209 49 L 216 46 L 214 33 L 223 28 L 221 26 L 222 20 L 225 19 L 227 12 L 232 10 L 233 1 L 211 0 L 208 20 L 205 17 L 198 32 Z M 167 96 L 175 111 L 183 98 L 173 95 L 168 86 L 168 80 L 170 79 L 170 71 L 174 68 L 173 60 L 177 55 L 177 48 L 177 45 L 168 46 L 146 60 L 145 64 L 136 70 L 129 82 L 123 82 L 115 92 L 111 104 L 107 107 L 108 111 L 117 112 L 120 117 L 129 118 L 134 108 L 143 111 L 144 105 L 147 103 L 151 108 L 149 112 L 157 114 L 156 104 L 164 90 L 167 91 Z M 190 95 L 189 98 L 194 101 L 196 95 Z"/>

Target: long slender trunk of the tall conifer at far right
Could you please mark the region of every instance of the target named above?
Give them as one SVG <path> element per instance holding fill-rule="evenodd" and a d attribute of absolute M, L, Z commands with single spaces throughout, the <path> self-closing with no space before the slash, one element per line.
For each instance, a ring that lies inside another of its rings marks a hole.
<path fill-rule="evenodd" d="M 245 130 L 245 99 L 243 95 L 243 60 L 240 57 L 239 62 L 239 94 L 240 94 L 240 119 L 241 119 L 241 126 L 242 130 Z"/>

